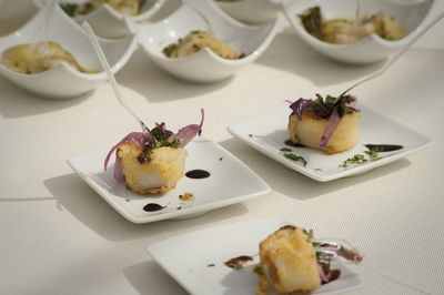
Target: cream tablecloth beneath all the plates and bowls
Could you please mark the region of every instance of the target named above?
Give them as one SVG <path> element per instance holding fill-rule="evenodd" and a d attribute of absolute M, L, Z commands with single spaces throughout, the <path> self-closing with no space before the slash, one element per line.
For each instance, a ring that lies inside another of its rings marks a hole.
<path fill-rule="evenodd" d="M 27 1 L 14 3 L 22 4 L 17 16 L 31 14 Z M 0 11 L 2 34 L 20 26 L 19 18 Z M 179 128 L 198 122 L 204 108 L 204 134 L 272 187 L 190 220 L 132 224 L 68 166 L 70 156 L 109 148 L 138 129 L 107 83 L 89 96 L 51 101 L 0 77 L 1 293 L 185 294 L 150 257 L 148 244 L 279 216 L 320 236 L 344 237 L 364 253 L 373 271 L 354 266 L 364 282 L 354 294 L 444 294 L 444 26 L 433 28 L 384 77 L 355 91 L 362 103 L 435 144 L 364 175 L 320 183 L 246 146 L 226 126 L 281 108 L 285 99 L 339 93 L 381 64 L 327 60 L 285 20 L 281 24 L 256 62 L 221 83 L 181 82 L 141 50 L 117 74 L 123 95 L 145 121 Z"/>

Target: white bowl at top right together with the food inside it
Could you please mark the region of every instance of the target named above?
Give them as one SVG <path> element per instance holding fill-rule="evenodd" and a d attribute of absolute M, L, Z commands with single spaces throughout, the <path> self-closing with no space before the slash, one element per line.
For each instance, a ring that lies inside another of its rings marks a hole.
<path fill-rule="evenodd" d="M 314 0 L 282 7 L 314 50 L 336 61 L 362 64 L 382 61 L 407 44 L 425 26 L 434 3 L 374 0 L 362 1 L 357 8 L 355 0 Z"/>

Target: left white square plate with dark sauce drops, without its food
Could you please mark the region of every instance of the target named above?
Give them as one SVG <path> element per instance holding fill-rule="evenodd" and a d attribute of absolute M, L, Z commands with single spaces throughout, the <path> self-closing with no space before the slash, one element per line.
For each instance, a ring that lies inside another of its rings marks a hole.
<path fill-rule="evenodd" d="M 128 190 L 124 182 L 117 182 L 114 165 L 103 170 L 109 150 L 73 156 L 68 163 L 113 208 L 133 223 L 192 217 L 271 191 L 250 167 L 216 143 L 201 136 L 190 142 L 186 150 L 185 171 L 202 169 L 211 175 L 201 180 L 183 176 L 164 195 L 138 195 Z M 114 155 L 110 163 L 114 163 Z M 179 195 L 185 192 L 192 193 L 195 200 L 180 200 Z M 165 207 L 145 212 L 143 207 L 149 203 Z"/>

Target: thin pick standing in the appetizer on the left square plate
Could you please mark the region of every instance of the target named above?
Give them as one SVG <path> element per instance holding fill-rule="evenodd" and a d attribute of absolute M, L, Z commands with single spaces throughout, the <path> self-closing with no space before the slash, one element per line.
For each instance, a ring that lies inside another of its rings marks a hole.
<path fill-rule="evenodd" d="M 142 130 L 144 132 L 150 133 L 150 130 L 147 128 L 147 125 L 143 123 L 143 121 L 131 110 L 130 106 L 128 106 L 127 102 L 123 100 L 123 95 L 120 92 L 118 82 L 115 81 L 114 74 L 111 71 L 111 67 L 108 64 L 107 58 L 102 51 L 102 48 L 99 44 L 99 41 L 98 41 L 91 26 L 87 21 L 83 21 L 82 27 L 83 27 L 88 38 L 90 39 L 92 48 L 94 49 L 95 54 L 98 55 L 100 63 L 102 64 L 102 68 L 104 69 L 105 73 L 107 73 L 108 80 L 110 81 L 112 90 L 114 91 L 114 94 L 118 98 L 120 104 L 122 104 L 123 109 L 125 109 L 141 124 Z"/>

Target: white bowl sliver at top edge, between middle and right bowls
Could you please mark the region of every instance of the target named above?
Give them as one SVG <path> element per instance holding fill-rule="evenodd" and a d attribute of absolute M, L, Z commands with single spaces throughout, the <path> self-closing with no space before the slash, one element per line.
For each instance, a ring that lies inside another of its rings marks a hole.
<path fill-rule="evenodd" d="M 215 1 L 215 0 L 213 0 Z M 233 2 L 215 1 L 229 16 L 236 20 L 259 24 L 276 19 L 281 11 L 280 6 L 273 0 L 241 0 Z"/>

